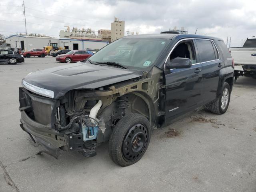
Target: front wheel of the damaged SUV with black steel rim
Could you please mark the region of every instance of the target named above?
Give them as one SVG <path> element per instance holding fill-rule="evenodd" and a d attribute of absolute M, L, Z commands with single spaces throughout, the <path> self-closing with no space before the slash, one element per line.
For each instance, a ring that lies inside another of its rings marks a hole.
<path fill-rule="evenodd" d="M 151 128 L 147 118 L 131 113 L 116 124 L 109 140 L 108 153 L 114 163 L 125 167 L 138 162 L 150 143 Z"/>

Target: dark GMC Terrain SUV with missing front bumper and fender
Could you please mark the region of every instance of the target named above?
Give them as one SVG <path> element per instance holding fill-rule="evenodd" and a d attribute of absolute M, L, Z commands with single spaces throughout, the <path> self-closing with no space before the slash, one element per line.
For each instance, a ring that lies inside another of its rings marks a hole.
<path fill-rule="evenodd" d="M 125 36 L 83 62 L 28 74 L 19 91 L 20 126 L 51 154 L 90 157 L 109 140 L 116 164 L 134 164 L 153 129 L 193 110 L 226 112 L 234 66 L 222 42 L 189 34 Z"/>

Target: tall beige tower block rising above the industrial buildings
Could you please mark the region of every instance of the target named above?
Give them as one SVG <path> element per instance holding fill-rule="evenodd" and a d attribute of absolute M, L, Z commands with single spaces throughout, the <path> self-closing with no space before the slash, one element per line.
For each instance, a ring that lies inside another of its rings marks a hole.
<path fill-rule="evenodd" d="M 118 18 L 114 18 L 114 22 L 111 23 L 111 42 L 122 38 L 124 36 L 124 21 L 119 21 Z"/>

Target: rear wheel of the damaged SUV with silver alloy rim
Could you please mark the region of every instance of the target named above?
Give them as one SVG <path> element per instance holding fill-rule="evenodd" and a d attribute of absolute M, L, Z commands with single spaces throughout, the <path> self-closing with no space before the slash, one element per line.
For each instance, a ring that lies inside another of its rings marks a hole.
<path fill-rule="evenodd" d="M 226 94 L 226 91 L 227 94 Z M 226 110 L 228 109 L 228 105 L 230 102 L 230 86 L 227 82 L 224 82 L 223 87 L 222 87 L 222 93 L 220 97 L 210 104 L 210 111 L 215 114 L 224 114 Z"/>

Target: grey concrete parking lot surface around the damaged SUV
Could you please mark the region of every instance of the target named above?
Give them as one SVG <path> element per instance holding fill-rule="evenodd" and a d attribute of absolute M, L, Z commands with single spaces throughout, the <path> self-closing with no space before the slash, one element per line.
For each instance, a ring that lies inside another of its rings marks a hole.
<path fill-rule="evenodd" d="M 19 126 L 18 86 L 26 74 L 63 63 L 25 61 L 0 65 L 0 192 L 256 191 L 255 79 L 237 80 L 225 114 L 202 110 L 154 131 L 143 158 L 123 168 L 110 160 L 107 143 L 92 158 L 36 155 L 43 148 Z"/>

